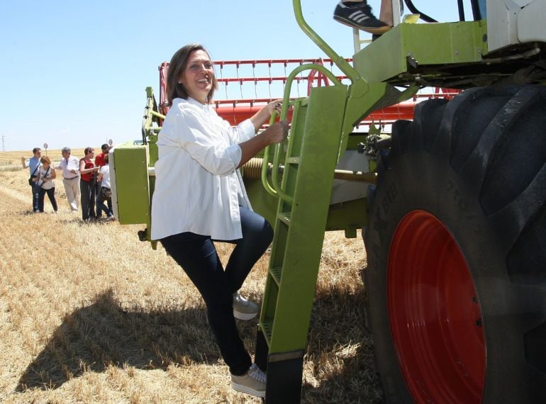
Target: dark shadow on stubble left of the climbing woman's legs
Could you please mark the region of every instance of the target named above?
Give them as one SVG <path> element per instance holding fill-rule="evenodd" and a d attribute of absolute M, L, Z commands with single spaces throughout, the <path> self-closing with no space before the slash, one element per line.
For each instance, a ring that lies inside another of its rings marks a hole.
<path fill-rule="evenodd" d="M 204 309 L 123 310 L 111 290 L 66 315 L 43 351 L 28 365 L 16 391 L 58 388 L 84 371 L 108 366 L 167 369 L 171 363 L 219 358 Z"/>

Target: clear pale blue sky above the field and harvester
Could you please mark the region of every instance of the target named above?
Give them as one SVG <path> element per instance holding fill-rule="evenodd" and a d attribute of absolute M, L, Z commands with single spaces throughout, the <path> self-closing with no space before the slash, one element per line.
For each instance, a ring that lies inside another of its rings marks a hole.
<path fill-rule="evenodd" d="M 413 2 L 439 21 L 457 20 L 456 0 Z M 311 27 L 352 57 L 352 30 L 332 19 L 336 1 L 301 4 Z M 378 15 L 379 0 L 369 4 Z M 213 60 L 325 56 L 289 0 L 4 0 L 1 9 L 5 150 L 139 139 L 145 87 L 159 98 L 158 65 L 187 43 L 202 43 Z"/>

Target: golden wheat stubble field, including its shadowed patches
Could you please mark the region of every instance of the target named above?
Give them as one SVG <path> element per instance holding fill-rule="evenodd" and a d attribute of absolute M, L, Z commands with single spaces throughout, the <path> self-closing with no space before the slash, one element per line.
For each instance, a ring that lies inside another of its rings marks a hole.
<path fill-rule="evenodd" d="M 28 170 L 0 172 L 1 403 L 260 403 L 230 388 L 194 286 L 141 226 L 83 224 L 46 198 L 32 214 Z M 221 257 L 229 245 L 217 245 Z M 267 255 L 243 294 L 261 302 Z M 360 238 L 325 239 L 302 403 L 381 403 L 364 326 Z M 255 322 L 238 322 L 254 352 Z"/>

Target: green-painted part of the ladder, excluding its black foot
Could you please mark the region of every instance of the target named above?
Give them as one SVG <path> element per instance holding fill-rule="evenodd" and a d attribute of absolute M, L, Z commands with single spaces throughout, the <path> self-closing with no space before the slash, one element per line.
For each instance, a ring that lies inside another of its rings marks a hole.
<path fill-rule="evenodd" d="M 269 354 L 306 347 L 346 99 L 347 86 L 313 89 L 292 121 L 282 188 L 294 201 L 279 201 L 260 316 Z"/>

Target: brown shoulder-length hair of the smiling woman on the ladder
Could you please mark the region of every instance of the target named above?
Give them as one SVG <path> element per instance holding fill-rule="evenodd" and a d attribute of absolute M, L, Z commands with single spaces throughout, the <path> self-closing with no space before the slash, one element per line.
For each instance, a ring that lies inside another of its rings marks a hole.
<path fill-rule="evenodd" d="M 208 55 L 206 49 L 194 43 L 181 47 L 177 52 L 172 55 L 171 62 L 169 62 L 169 71 L 167 72 L 167 105 L 172 106 L 172 100 L 174 99 L 188 99 L 188 92 L 184 88 L 184 84 L 179 83 L 180 77 L 184 73 L 188 64 L 189 56 L 194 50 L 203 50 Z M 208 56 L 210 57 L 210 55 Z M 212 88 L 208 92 L 207 103 L 211 103 L 214 91 L 218 89 L 218 82 L 216 81 L 216 74 L 212 77 Z"/>

